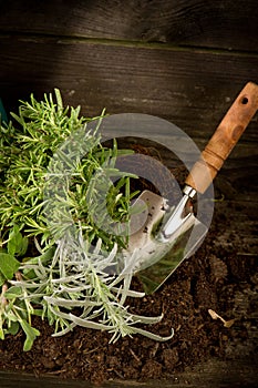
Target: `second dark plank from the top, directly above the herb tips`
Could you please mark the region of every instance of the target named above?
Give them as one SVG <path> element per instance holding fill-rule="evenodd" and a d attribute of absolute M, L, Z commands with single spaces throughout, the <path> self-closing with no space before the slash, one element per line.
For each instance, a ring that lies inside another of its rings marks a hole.
<path fill-rule="evenodd" d="M 258 55 L 96 44 L 54 38 L 0 37 L 1 98 L 7 110 L 31 92 L 59 88 L 82 113 L 138 112 L 174 122 L 207 141 L 233 100 L 252 80 Z M 257 115 L 238 155 L 257 155 Z M 244 144 L 247 144 L 245 146 Z"/>

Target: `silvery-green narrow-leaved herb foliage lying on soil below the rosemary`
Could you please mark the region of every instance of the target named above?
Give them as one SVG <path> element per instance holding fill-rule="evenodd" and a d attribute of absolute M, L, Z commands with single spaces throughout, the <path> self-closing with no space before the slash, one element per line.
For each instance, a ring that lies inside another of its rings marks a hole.
<path fill-rule="evenodd" d="M 90 248 L 81 233 L 78 241 L 66 235 L 58 242 L 50 262 L 41 257 L 38 262 L 28 261 L 20 268 L 27 279 L 11 283 L 25 289 L 24 299 L 40 306 L 38 314 L 55 324 L 54 336 L 83 326 L 107 330 L 113 334 L 111 341 L 136 333 L 155 340 L 172 338 L 173 333 L 161 337 L 138 327 L 158 323 L 163 315 L 146 317 L 130 313 L 126 298 L 143 297 L 144 293 L 131 289 L 133 255 L 118 275 L 116 258 L 116 244 L 105 252 L 100 239 Z"/>

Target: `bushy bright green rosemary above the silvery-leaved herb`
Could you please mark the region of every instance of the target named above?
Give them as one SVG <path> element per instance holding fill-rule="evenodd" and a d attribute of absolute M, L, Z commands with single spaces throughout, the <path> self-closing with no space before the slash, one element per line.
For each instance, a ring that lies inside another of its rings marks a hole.
<path fill-rule="evenodd" d="M 52 234 L 60 236 L 71 223 L 80 221 L 87 239 L 101 237 L 109 248 L 114 242 L 124 246 L 125 236 L 111 231 L 114 222 L 128 217 L 131 174 L 115 169 L 120 153 L 116 143 L 107 150 L 102 146 L 101 135 L 87 130 L 87 123 L 97 123 L 104 113 L 80 118 L 80 106 L 63 108 L 59 90 L 55 99 L 50 94 L 38 102 L 31 95 L 31 102 L 21 102 L 19 114 L 12 113 L 20 126 L 1 126 L 0 229 L 18 224 L 28 236 L 38 235 L 48 246 L 53 243 Z M 118 181 L 103 201 L 101 185 L 110 178 Z M 48 214 L 52 214 L 52 227 Z M 111 227 L 103 229 L 109 223 Z"/>

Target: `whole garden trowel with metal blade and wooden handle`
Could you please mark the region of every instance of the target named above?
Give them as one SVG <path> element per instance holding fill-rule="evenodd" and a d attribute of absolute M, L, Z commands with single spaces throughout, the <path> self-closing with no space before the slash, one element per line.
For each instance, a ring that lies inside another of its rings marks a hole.
<path fill-rule="evenodd" d="M 133 218 L 133 228 L 137 232 L 130 236 L 125 258 L 133 257 L 134 272 L 147 294 L 156 290 L 204 241 L 208 227 L 195 216 L 192 201 L 211 184 L 257 109 L 258 85 L 249 82 L 194 164 L 176 206 L 168 206 L 165 198 L 151 191 L 144 191 L 134 203 L 133 206 L 145 207 Z"/>

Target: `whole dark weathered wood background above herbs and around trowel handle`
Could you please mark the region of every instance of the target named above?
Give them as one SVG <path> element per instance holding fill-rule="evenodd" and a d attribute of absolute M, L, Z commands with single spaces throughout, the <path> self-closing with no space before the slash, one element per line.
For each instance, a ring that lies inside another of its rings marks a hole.
<path fill-rule="evenodd" d="M 31 92 L 42 98 L 59 88 L 85 115 L 103 108 L 156 115 L 204 146 L 248 81 L 258 83 L 256 0 L 0 0 L 8 111 Z M 230 208 L 230 233 L 252 254 L 257 156 L 258 115 L 215 184 Z"/>

